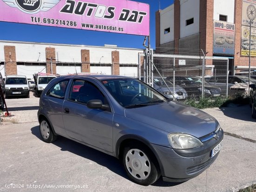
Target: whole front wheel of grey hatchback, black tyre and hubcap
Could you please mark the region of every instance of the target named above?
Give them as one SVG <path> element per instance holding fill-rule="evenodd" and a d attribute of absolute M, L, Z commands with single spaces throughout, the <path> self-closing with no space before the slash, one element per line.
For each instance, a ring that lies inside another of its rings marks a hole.
<path fill-rule="evenodd" d="M 139 185 L 151 185 L 161 173 L 153 153 L 141 144 L 128 144 L 123 151 L 122 162 L 128 177 Z"/>

